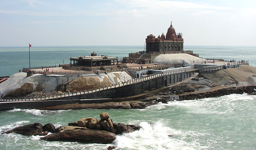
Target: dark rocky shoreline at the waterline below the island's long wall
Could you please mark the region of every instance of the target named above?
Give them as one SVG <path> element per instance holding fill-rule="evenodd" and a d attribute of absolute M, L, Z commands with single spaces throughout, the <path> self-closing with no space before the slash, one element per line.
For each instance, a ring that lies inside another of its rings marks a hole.
<path fill-rule="evenodd" d="M 183 91 L 180 94 L 173 95 L 171 93 L 176 93 L 175 90 Z M 186 90 L 187 89 L 187 90 Z M 215 89 L 215 90 L 214 90 Z M 194 91 L 187 83 L 181 83 L 171 87 L 165 92 L 161 92 L 152 97 L 147 97 L 141 100 L 135 101 L 123 101 L 123 102 L 106 102 L 106 103 L 86 103 L 86 104 L 66 104 L 54 107 L 45 107 L 42 110 L 61 110 L 61 109 L 145 109 L 151 105 L 157 105 L 158 103 L 168 103 L 170 101 L 181 101 L 181 100 L 194 100 L 209 97 L 220 97 L 223 95 L 230 94 L 251 94 L 255 95 L 256 86 L 239 86 L 239 87 L 214 87 L 214 89 L 206 91 Z M 194 91 L 194 92 L 193 92 Z M 173 98 L 175 97 L 175 98 Z"/>

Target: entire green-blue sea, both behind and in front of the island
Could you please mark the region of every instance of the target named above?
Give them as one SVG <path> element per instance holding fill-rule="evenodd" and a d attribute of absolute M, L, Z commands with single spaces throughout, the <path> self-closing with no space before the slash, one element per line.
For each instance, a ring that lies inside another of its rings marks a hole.
<path fill-rule="evenodd" d="M 70 57 L 109 55 L 121 60 L 128 53 L 143 51 L 142 46 L 32 47 L 31 67 L 69 64 Z M 199 57 L 248 60 L 256 67 L 256 47 L 184 46 Z M 29 67 L 29 48 L 0 48 L 0 76 L 11 76 Z M 0 112 L 0 133 L 40 122 L 66 126 L 83 117 L 100 119 L 109 113 L 116 123 L 135 124 L 142 129 L 118 135 L 111 144 L 43 141 L 40 136 L 0 134 L 0 150 L 254 150 L 256 149 L 256 96 L 232 94 L 199 100 L 158 103 L 146 109 L 37 110 L 13 109 Z"/>

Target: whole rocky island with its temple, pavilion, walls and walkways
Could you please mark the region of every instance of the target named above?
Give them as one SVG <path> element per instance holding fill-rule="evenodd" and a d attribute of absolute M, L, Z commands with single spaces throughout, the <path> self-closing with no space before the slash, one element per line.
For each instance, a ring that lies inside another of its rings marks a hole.
<path fill-rule="evenodd" d="M 183 50 L 182 34 L 172 24 L 166 35 L 148 35 L 145 46 L 122 62 L 93 52 L 57 68 L 66 70 L 24 69 L 0 84 L 0 110 L 141 109 L 171 100 L 255 92 L 255 67 L 245 60 L 206 60 Z"/>

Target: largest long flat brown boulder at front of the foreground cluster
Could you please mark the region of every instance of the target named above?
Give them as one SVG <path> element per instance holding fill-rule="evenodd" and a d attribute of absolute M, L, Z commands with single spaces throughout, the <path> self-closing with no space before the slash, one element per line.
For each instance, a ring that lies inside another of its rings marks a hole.
<path fill-rule="evenodd" d="M 42 137 L 41 140 L 46 141 L 77 141 L 81 143 L 112 143 L 116 138 L 116 134 L 108 131 L 100 131 L 87 129 L 77 126 L 64 126 L 60 128 L 58 133 L 50 134 Z"/>

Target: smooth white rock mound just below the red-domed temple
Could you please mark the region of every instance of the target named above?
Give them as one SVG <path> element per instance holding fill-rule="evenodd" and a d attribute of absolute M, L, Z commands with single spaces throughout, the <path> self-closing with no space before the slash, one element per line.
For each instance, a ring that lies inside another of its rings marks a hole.
<path fill-rule="evenodd" d="M 187 53 L 161 54 L 158 55 L 153 63 L 156 64 L 204 64 L 206 59 L 201 59 Z"/>

